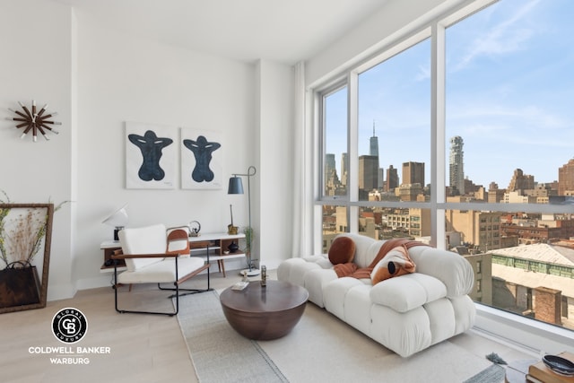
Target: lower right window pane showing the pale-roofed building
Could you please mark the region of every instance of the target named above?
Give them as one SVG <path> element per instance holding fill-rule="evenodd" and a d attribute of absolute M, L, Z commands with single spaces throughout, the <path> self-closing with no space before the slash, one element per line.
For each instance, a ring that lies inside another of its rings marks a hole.
<path fill-rule="evenodd" d="M 574 329 L 570 214 L 448 210 L 447 247 L 474 268 L 477 302 Z"/>

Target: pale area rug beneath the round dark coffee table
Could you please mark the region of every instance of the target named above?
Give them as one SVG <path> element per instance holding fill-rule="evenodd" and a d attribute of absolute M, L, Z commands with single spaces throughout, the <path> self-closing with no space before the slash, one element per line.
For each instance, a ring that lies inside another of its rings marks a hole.
<path fill-rule="evenodd" d="M 179 300 L 179 324 L 200 382 L 473 382 L 504 380 L 491 361 L 448 341 L 402 358 L 308 303 L 289 335 L 250 341 L 227 323 L 215 292 Z"/>

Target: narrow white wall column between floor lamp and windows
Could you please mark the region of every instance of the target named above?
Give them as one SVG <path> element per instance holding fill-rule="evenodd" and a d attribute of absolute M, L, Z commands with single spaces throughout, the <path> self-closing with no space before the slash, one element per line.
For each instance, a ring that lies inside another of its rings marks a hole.
<path fill-rule="evenodd" d="M 276 268 L 292 256 L 293 69 L 260 60 L 257 64 L 259 140 L 259 259 Z M 278 197 L 283 196 L 283 197 Z M 264 209 L 265 207 L 265 209 Z M 257 242 L 257 241 L 256 241 Z"/>

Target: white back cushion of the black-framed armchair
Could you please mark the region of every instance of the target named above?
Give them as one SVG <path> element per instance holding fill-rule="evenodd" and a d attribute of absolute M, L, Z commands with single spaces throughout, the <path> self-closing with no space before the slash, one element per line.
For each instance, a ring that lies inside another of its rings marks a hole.
<path fill-rule="evenodd" d="M 167 249 L 168 239 L 164 224 L 143 228 L 124 229 L 117 233 L 124 254 L 161 254 Z M 160 262 L 163 258 L 128 258 L 127 270 L 135 271 L 146 265 Z"/>

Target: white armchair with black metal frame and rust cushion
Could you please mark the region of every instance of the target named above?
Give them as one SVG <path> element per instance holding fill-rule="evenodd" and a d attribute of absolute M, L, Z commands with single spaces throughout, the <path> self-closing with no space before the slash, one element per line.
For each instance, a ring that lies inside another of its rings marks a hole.
<path fill-rule="evenodd" d="M 119 313 L 131 312 L 137 314 L 163 314 L 173 316 L 179 311 L 179 296 L 181 291 L 187 293 L 207 292 L 212 290 L 209 284 L 209 261 L 207 263 L 200 257 L 189 257 L 189 241 L 187 231 L 182 229 L 171 230 L 169 233 L 163 224 L 130 228 L 119 231 L 121 251 L 112 256 L 112 259 L 124 259 L 127 270 L 117 273 L 114 265 L 115 277 L 115 304 Z M 182 289 L 179 284 L 189 278 L 207 270 L 206 289 Z M 175 292 L 171 297 L 176 298 L 176 307 L 173 311 L 136 311 L 119 309 L 117 290 L 122 284 L 157 283 L 160 290 Z M 172 283 L 173 287 L 161 287 L 161 283 Z"/>

